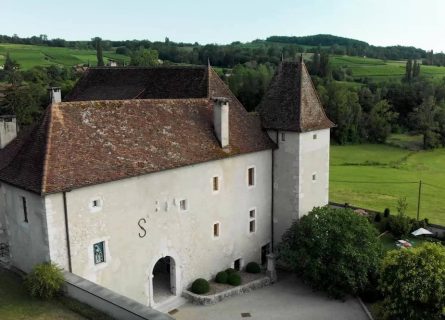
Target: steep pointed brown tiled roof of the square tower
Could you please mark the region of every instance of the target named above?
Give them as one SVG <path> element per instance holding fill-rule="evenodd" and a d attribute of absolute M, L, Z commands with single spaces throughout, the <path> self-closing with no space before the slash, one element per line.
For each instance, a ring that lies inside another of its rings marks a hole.
<path fill-rule="evenodd" d="M 304 62 L 282 62 L 257 110 L 266 129 L 306 132 L 332 128 Z"/>

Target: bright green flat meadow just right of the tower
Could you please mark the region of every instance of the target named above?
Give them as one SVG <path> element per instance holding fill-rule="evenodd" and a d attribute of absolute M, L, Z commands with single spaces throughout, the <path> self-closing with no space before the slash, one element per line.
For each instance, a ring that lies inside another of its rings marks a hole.
<path fill-rule="evenodd" d="M 400 137 L 392 140 L 409 143 Z M 330 200 L 378 211 L 388 207 L 395 213 L 398 198 L 406 197 L 408 214 L 416 217 L 422 180 L 420 218 L 445 225 L 444 159 L 445 149 L 416 151 L 371 144 L 331 146 Z"/>

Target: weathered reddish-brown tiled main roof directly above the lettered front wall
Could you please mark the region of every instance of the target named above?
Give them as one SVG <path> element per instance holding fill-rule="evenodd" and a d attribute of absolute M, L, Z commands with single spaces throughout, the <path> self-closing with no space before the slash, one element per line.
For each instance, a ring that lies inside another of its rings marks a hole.
<path fill-rule="evenodd" d="M 205 73 L 202 98 L 52 104 L 0 150 L 0 180 L 47 194 L 273 148 L 259 117 Z M 212 96 L 230 99 L 227 149 L 214 134 Z"/>

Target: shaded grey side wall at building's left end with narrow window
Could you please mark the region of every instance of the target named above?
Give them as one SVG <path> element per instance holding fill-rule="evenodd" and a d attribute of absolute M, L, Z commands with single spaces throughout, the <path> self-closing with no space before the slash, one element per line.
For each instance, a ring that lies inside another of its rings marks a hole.
<path fill-rule="evenodd" d="M 5 183 L 0 190 L 0 217 L 6 224 L 11 263 L 28 272 L 35 264 L 50 258 L 43 198 Z M 26 198 L 28 222 L 24 221 L 21 197 Z"/>

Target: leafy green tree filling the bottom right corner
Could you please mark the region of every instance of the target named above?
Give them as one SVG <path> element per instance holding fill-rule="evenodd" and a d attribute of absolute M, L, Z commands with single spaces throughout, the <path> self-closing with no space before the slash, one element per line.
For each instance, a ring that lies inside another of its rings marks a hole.
<path fill-rule="evenodd" d="M 445 247 L 426 243 L 389 251 L 380 270 L 384 318 L 445 318 Z"/>

